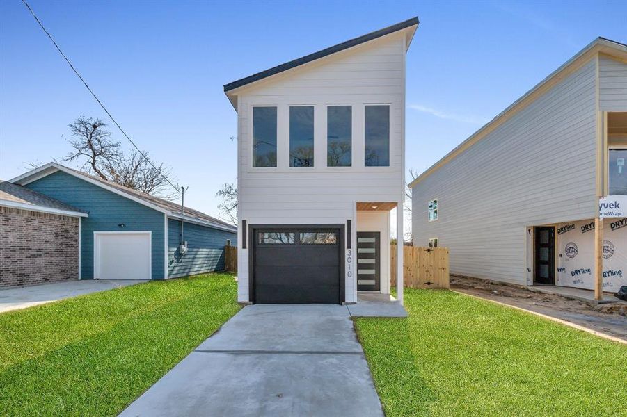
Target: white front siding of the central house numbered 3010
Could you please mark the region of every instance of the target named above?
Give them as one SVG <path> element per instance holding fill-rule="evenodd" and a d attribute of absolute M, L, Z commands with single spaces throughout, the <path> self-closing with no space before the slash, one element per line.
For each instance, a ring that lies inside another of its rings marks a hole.
<path fill-rule="evenodd" d="M 397 33 L 241 92 L 237 109 L 241 220 L 248 224 L 345 224 L 351 219 L 355 224 L 356 202 L 402 201 L 404 54 L 404 34 Z M 299 104 L 315 106 L 312 168 L 289 167 L 289 106 Z M 333 104 L 353 109 L 351 167 L 326 167 L 326 106 Z M 390 105 L 390 167 L 364 166 L 365 104 Z M 253 106 L 278 107 L 276 168 L 252 166 Z M 354 227 L 349 238 L 355 236 Z M 239 276 L 248 277 L 248 250 L 239 253 Z M 346 279 L 345 291 L 347 301 L 354 301 L 354 279 Z M 248 300 L 248 280 L 240 281 L 238 297 Z"/>

